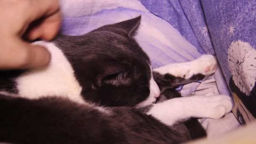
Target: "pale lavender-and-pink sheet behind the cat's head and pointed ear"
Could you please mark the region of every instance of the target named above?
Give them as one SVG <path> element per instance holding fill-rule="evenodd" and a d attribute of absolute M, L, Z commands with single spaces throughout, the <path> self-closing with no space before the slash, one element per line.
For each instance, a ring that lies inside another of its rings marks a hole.
<path fill-rule="evenodd" d="M 136 40 L 151 58 L 153 68 L 191 61 L 204 53 L 200 45 L 189 43 L 170 23 L 150 13 L 138 0 L 61 0 L 61 8 L 62 33 L 67 35 L 82 35 L 105 24 L 141 15 Z M 195 37 L 189 38 L 196 41 Z"/>

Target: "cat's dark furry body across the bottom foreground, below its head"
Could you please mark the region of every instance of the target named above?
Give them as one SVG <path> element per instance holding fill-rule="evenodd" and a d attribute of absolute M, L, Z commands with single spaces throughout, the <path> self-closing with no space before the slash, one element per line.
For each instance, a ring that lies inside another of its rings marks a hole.
<path fill-rule="evenodd" d="M 29 100 L 0 95 L 0 141 L 26 144 L 176 144 L 177 128 L 131 107 L 109 114 L 57 97 Z"/>

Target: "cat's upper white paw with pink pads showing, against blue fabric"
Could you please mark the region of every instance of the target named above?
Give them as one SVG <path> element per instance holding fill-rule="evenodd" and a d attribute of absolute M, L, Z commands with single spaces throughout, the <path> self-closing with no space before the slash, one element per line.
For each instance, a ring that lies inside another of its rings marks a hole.
<path fill-rule="evenodd" d="M 217 69 L 217 60 L 212 55 L 203 55 L 200 58 L 191 61 L 191 69 L 189 70 L 189 77 L 198 73 L 205 76 L 212 75 Z"/>

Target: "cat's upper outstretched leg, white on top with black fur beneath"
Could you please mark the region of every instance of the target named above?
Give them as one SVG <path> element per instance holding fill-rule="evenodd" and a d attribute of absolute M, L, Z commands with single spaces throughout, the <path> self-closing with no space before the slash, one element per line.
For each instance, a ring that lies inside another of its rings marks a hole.
<path fill-rule="evenodd" d="M 217 61 L 212 55 L 184 62 L 168 64 L 153 70 L 153 78 L 161 91 L 166 88 L 177 88 L 180 85 L 203 80 L 205 76 L 216 71 Z"/>

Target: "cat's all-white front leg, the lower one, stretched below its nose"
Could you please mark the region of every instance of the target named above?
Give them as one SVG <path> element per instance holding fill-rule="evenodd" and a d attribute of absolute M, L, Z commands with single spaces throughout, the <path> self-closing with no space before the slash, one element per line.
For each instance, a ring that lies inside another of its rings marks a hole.
<path fill-rule="evenodd" d="M 232 99 L 225 95 L 189 96 L 154 104 L 147 112 L 166 125 L 173 125 L 190 117 L 219 119 L 232 109 Z"/>

